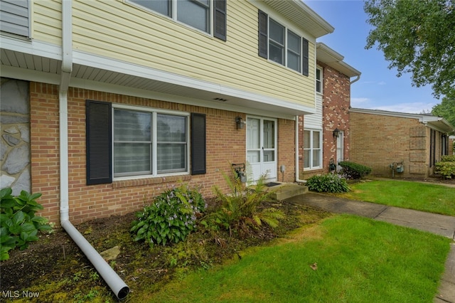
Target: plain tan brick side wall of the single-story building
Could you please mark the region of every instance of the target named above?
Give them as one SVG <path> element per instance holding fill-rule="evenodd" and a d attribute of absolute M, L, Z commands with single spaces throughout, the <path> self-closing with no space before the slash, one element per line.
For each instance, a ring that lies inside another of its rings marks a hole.
<path fill-rule="evenodd" d="M 370 166 L 373 175 L 392 176 L 394 162 L 405 168 L 395 177 L 427 174 L 429 129 L 418 119 L 351 112 L 350 129 L 350 158 Z"/>

